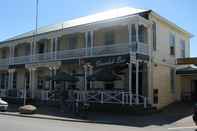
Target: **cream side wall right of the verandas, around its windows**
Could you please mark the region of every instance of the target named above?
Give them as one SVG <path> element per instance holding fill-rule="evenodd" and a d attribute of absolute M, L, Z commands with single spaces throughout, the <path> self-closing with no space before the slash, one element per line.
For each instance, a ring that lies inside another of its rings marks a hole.
<path fill-rule="evenodd" d="M 185 40 L 186 57 L 190 56 L 189 35 L 185 34 L 175 27 L 171 27 L 164 21 L 151 15 L 150 19 L 157 25 L 157 50 L 153 52 L 153 89 L 158 89 L 158 104 L 155 106 L 160 109 L 174 101 L 180 100 L 180 89 L 176 86 L 175 93 L 171 92 L 170 69 L 175 67 L 176 58 L 181 57 L 180 40 Z M 175 56 L 170 55 L 170 33 L 175 35 Z M 179 81 L 176 81 L 179 82 Z M 179 83 L 175 84 L 179 85 Z"/>

